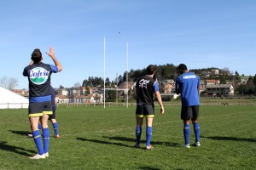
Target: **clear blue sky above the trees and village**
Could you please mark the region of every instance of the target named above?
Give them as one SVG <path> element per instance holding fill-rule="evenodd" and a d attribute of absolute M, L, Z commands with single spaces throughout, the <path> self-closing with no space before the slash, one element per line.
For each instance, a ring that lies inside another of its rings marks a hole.
<path fill-rule="evenodd" d="M 63 67 L 55 88 L 103 78 L 104 37 L 111 80 L 126 71 L 127 43 L 129 71 L 184 63 L 256 74 L 254 0 L 9 0 L 0 20 L 0 77 L 15 77 L 17 88 L 28 87 L 22 71 L 32 50 L 50 46 Z"/>

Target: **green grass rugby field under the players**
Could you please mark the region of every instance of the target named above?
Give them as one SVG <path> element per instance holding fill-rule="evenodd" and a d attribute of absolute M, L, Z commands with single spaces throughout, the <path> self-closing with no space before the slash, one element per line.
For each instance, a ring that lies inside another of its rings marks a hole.
<path fill-rule="evenodd" d="M 133 148 L 135 106 L 59 107 L 60 139 L 36 154 L 27 111 L 0 110 L 0 169 L 256 169 L 256 107 L 201 106 L 201 147 L 182 148 L 179 106 L 154 118 L 153 150 Z M 50 122 L 49 122 L 50 125 Z M 53 128 L 50 126 L 51 137 Z M 190 142 L 195 140 L 191 128 Z M 142 144 L 145 144 L 143 125 Z"/>

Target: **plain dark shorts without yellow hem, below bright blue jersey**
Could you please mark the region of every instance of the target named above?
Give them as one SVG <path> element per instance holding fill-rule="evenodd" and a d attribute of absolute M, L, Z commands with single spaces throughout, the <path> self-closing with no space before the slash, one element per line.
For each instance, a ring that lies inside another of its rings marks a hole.
<path fill-rule="evenodd" d="M 182 107 L 181 109 L 181 119 L 189 120 L 196 119 L 199 116 L 199 105 L 192 105 L 187 107 Z"/>

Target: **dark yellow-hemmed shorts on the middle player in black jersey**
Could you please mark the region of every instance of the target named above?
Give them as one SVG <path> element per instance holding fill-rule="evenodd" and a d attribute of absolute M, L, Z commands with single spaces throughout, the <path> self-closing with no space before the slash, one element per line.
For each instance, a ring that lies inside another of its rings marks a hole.
<path fill-rule="evenodd" d="M 137 117 L 154 117 L 154 104 L 152 105 L 137 105 L 136 108 Z"/>

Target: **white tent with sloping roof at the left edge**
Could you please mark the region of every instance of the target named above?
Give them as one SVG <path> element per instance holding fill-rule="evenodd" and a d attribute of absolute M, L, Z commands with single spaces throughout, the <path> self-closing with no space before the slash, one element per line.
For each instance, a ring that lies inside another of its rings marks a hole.
<path fill-rule="evenodd" d="M 0 87 L 0 109 L 28 108 L 28 99 Z"/>

